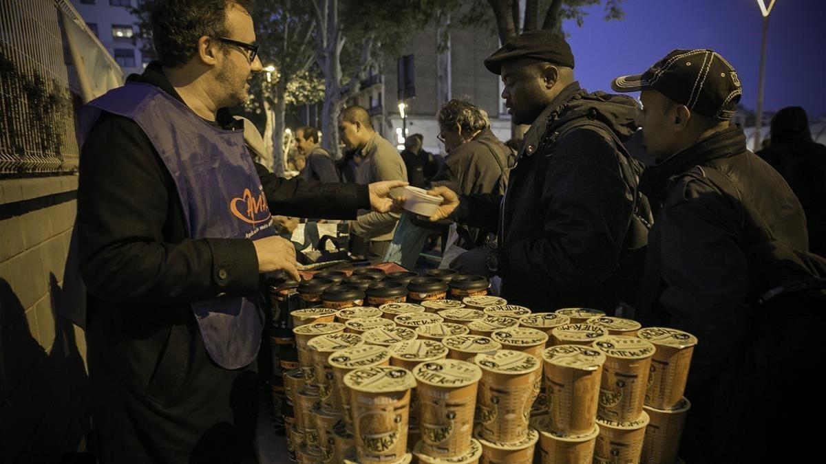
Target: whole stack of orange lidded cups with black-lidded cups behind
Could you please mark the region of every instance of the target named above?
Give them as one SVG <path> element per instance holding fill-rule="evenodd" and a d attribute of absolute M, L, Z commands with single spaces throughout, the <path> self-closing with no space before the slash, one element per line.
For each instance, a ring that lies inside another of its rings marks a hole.
<path fill-rule="evenodd" d="M 532 314 L 484 277 L 381 277 L 299 287 L 297 368 L 282 374 L 292 460 L 678 462 L 691 334 L 586 308 Z"/>

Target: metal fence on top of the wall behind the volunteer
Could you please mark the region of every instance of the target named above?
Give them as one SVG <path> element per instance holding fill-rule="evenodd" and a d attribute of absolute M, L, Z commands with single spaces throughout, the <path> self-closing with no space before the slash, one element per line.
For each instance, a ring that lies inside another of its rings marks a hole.
<path fill-rule="evenodd" d="M 61 31 L 67 5 L 0 1 L 0 178 L 77 171 L 79 99 L 69 85 Z"/>

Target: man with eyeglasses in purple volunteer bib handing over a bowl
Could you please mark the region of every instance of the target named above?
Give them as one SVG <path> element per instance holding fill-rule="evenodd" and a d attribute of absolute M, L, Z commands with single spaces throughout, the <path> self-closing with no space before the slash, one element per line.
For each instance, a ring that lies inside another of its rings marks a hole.
<path fill-rule="evenodd" d="M 263 276 L 299 278 L 271 211 L 349 219 L 405 185 L 287 181 L 253 162 L 226 110 L 262 69 L 250 3 L 156 2 L 159 61 L 78 114 L 99 462 L 251 461 Z"/>

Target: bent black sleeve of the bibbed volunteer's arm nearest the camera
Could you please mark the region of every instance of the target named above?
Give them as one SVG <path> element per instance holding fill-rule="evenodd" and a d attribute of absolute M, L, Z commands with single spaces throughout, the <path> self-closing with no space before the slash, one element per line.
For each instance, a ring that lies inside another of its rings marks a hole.
<path fill-rule="evenodd" d="M 104 115 L 83 146 L 80 268 L 107 301 L 197 301 L 259 286 L 246 239 L 187 239 L 173 180 L 135 122 Z"/>

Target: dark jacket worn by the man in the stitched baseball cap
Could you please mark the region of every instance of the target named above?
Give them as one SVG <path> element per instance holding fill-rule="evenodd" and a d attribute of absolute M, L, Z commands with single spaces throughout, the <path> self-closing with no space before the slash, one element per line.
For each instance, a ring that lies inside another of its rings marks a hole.
<path fill-rule="evenodd" d="M 711 182 L 711 169 L 738 193 L 725 194 Z M 685 394 L 692 409 L 681 457 L 686 462 L 752 461 L 747 453 L 766 444 L 754 431 L 770 425 L 759 419 L 790 393 L 760 397 L 753 392 L 771 380 L 762 378 L 776 372 L 769 367 L 795 360 L 767 365 L 749 354 L 757 335 L 755 318 L 761 317 L 749 282 L 750 274 L 760 272 L 748 259 L 748 245 L 754 242 L 750 225 L 762 216 L 778 242 L 806 250 L 800 202 L 780 174 L 746 149 L 736 126 L 646 169 L 640 190 L 662 202 L 662 208 L 648 236 L 638 319 L 645 326 L 685 330 L 699 340 Z"/>

